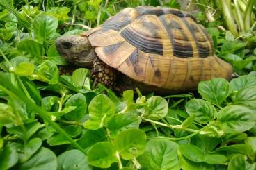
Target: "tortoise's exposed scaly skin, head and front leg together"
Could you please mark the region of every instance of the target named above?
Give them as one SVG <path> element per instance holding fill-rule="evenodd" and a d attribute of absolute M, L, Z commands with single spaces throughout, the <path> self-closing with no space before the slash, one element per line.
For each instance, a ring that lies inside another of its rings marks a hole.
<path fill-rule="evenodd" d="M 90 45 L 88 37 L 69 35 L 56 40 L 56 49 L 65 60 L 81 67 L 93 68 L 94 85 L 102 83 L 113 89 L 115 87 L 115 69 L 100 60 Z"/>

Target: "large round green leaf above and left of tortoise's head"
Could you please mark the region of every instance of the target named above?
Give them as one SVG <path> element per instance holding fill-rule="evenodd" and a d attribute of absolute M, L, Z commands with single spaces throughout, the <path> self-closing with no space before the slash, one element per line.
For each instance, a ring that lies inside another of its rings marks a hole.
<path fill-rule="evenodd" d="M 58 28 L 58 20 L 50 15 L 39 15 L 35 17 L 32 25 L 35 36 L 42 42 L 54 36 Z"/>

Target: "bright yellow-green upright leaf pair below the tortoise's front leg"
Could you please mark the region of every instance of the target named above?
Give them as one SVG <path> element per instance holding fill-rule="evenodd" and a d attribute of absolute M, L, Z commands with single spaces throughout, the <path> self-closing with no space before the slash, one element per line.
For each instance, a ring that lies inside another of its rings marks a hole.
<path fill-rule="evenodd" d="M 83 126 L 97 130 L 102 128 L 106 123 L 106 119 L 115 113 L 115 105 L 108 96 L 99 94 L 90 101 L 88 110 L 90 119 Z"/>

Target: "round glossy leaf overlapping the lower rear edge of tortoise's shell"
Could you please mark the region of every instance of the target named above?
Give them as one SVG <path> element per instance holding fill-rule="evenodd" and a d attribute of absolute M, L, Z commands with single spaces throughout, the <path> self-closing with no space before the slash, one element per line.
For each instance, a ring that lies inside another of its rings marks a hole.
<path fill-rule="evenodd" d="M 221 105 L 230 94 L 230 85 L 224 78 L 214 78 L 200 82 L 198 92 L 201 94 L 202 99 Z"/>

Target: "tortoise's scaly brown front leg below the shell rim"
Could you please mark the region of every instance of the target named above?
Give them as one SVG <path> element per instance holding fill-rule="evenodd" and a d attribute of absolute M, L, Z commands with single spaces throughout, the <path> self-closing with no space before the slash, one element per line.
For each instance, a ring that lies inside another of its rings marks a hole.
<path fill-rule="evenodd" d="M 92 76 L 94 78 L 94 86 L 96 86 L 97 83 L 101 83 L 110 89 L 115 87 L 115 69 L 109 65 L 106 65 L 106 63 L 100 60 L 98 57 L 93 60 Z"/>

